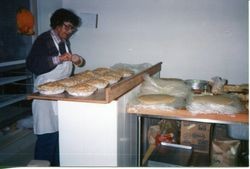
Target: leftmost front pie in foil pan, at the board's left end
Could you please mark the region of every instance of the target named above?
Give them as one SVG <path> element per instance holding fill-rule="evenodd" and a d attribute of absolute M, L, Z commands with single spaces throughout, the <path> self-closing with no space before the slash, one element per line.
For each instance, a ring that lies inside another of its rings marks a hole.
<path fill-rule="evenodd" d="M 63 93 L 65 90 L 65 87 L 62 84 L 57 83 L 57 82 L 48 82 L 48 83 L 39 85 L 37 89 L 41 94 L 53 95 L 53 94 Z"/>

